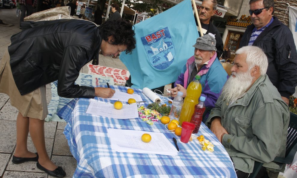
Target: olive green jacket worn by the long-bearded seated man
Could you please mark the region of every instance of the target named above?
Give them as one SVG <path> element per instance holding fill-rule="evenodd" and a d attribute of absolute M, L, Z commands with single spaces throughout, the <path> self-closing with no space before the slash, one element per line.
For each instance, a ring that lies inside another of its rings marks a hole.
<path fill-rule="evenodd" d="M 264 163 L 270 177 L 283 169 L 282 164 L 271 162 L 276 156 L 284 157 L 289 125 L 289 107 L 282 100 L 268 76 L 261 76 L 246 94 L 233 102 L 219 97 L 206 121 L 219 116 L 227 130 L 222 144 L 234 162 L 235 169 L 253 172 L 254 160 Z M 270 174 L 272 173 L 272 174 Z"/>

